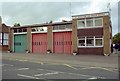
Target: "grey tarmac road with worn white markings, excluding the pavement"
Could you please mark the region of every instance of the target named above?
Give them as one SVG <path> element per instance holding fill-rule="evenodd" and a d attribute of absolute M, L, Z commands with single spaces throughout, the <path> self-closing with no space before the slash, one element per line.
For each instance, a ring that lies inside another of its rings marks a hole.
<path fill-rule="evenodd" d="M 21 60 L 2 61 L 3 79 L 118 79 L 115 69 L 41 64 Z"/>

